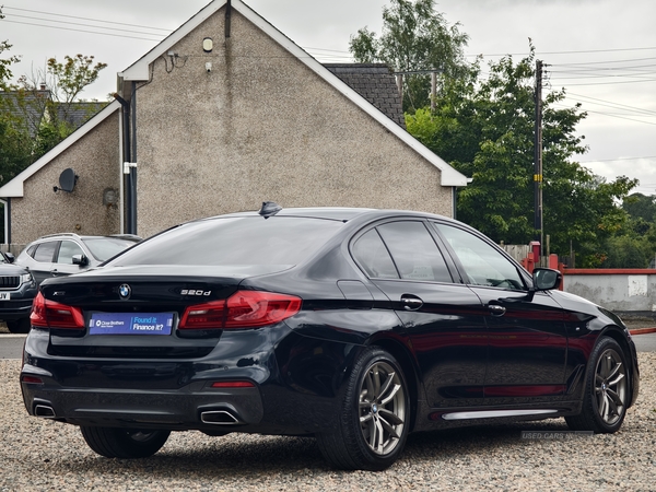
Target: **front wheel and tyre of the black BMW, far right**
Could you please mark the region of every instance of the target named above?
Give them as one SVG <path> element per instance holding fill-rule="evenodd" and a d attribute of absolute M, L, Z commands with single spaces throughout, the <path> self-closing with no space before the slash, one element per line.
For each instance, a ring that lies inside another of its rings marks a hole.
<path fill-rule="evenodd" d="M 588 362 L 583 407 L 578 415 L 566 417 L 573 431 L 617 432 L 629 406 L 629 367 L 622 348 L 602 337 Z"/>

